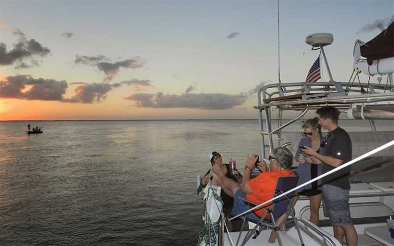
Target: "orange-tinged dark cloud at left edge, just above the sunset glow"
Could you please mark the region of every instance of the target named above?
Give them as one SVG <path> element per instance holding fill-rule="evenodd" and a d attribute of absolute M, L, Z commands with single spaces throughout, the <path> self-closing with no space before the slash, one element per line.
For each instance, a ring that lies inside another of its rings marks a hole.
<path fill-rule="evenodd" d="M 28 75 L 8 76 L 0 81 L 0 98 L 62 100 L 67 87 L 65 80 L 34 79 Z"/>

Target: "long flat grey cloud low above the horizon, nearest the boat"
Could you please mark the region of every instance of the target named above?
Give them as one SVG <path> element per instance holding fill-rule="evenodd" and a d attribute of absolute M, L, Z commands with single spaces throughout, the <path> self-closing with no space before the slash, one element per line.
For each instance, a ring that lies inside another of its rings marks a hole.
<path fill-rule="evenodd" d="M 194 108 L 223 110 L 245 103 L 246 94 L 227 95 L 222 93 L 184 93 L 182 95 L 137 93 L 124 99 L 135 101 L 137 107 L 148 108 Z"/>

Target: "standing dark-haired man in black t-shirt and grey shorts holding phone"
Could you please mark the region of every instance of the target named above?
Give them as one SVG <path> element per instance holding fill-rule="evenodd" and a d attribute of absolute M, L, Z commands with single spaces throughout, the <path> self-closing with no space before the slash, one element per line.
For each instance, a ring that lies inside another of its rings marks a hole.
<path fill-rule="evenodd" d="M 327 173 L 351 160 L 351 140 L 347 132 L 338 126 L 338 109 L 326 106 L 316 113 L 319 125 L 329 132 L 322 141 L 320 153 L 308 147 L 303 151 L 311 156 L 309 162 L 322 164 L 322 172 Z M 349 175 L 350 166 L 323 178 L 323 209 L 324 215 L 330 218 L 338 241 L 343 244 L 345 237 L 347 245 L 357 245 L 357 232 L 349 211 Z"/>

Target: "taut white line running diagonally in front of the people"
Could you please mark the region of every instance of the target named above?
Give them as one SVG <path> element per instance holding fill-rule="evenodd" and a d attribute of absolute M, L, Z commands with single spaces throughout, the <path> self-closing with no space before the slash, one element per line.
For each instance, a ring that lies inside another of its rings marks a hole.
<path fill-rule="evenodd" d="M 351 160 L 351 161 L 348 161 L 347 163 L 345 163 L 345 164 L 343 164 L 343 165 L 341 165 L 341 166 L 339 166 L 339 167 L 337 167 L 337 168 L 334 168 L 334 169 L 332 169 L 331 171 L 329 171 L 329 172 L 327 172 L 327 173 L 324 173 L 324 174 L 322 174 L 322 175 L 320 175 L 320 176 L 318 176 L 318 177 L 316 177 L 316 178 L 313 178 L 313 179 L 311 179 L 311 180 L 309 180 L 309 181 L 303 183 L 302 185 L 299 185 L 298 187 L 295 187 L 295 188 L 293 188 L 293 189 L 291 189 L 291 190 L 289 190 L 289 191 L 287 191 L 287 192 L 285 192 L 285 193 L 282 193 L 282 194 L 280 194 L 279 196 L 275 196 L 275 197 L 273 197 L 273 198 L 270 199 L 270 200 L 267 200 L 267 201 L 265 201 L 265 202 L 263 202 L 263 203 L 261 203 L 261 204 L 255 206 L 255 207 L 253 207 L 253 208 L 251 208 L 251 209 L 249 209 L 249 210 L 247 210 L 247 211 L 245 211 L 245 212 L 243 212 L 243 213 L 241 213 L 241 214 L 239 214 L 239 215 L 236 215 L 236 216 L 230 218 L 229 221 L 231 221 L 231 220 L 233 220 L 233 219 L 235 219 L 235 218 L 238 218 L 238 217 L 240 217 L 240 216 L 242 216 L 242 215 L 244 215 L 244 214 L 247 214 L 247 213 L 249 213 L 249 212 L 252 211 L 252 210 L 255 210 L 255 209 L 257 209 L 257 208 L 261 208 L 261 207 L 263 207 L 265 204 L 267 204 L 267 203 L 269 203 L 269 202 L 271 202 L 271 201 L 273 201 L 273 200 L 276 200 L 276 199 L 278 199 L 278 198 L 280 198 L 280 197 L 282 197 L 282 196 L 285 196 L 285 195 L 287 195 L 287 194 L 289 194 L 289 193 L 291 193 L 291 192 L 293 192 L 293 191 L 295 191 L 295 190 L 298 190 L 298 189 L 300 189 L 300 188 L 302 188 L 302 187 L 304 187 L 304 186 L 306 186 L 306 185 L 309 185 L 309 183 L 312 183 L 312 182 L 314 182 L 314 181 L 316 181 L 316 180 L 318 180 L 318 179 L 321 179 L 321 178 L 323 178 L 323 177 L 325 177 L 325 176 L 327 176 L 327 175 L 330 175 L 331 173 L 334 173 L 334 172 L 337 172 L 337 171 L 339 171 L 339 170 L 341 170 L 341 169 L 343 169 L 343 168 L 346 168 L 347 166 L 352 165 L 354 162 L 357 162 L 357 161 L 359 161 L 359 160 L 362 160 L 362 159 L 364 159 L 364 158 L 366 158 L 366 157 L 368 157 L 368 156 L 370 156 L 370 155 L 373 155 L 373 154 L 375 154 L 375 153 L 377 153 L 377 152 L 379 152 L 379 151 L 381 151 L 381 150 L 384 150 L 384 149 L 386 149 L 386 148 L 388 148 L 388 147 L 390 147 L 390 146 L 392 146 L 392 145 L 394 145 L 394 140 L 388 142 L 387 144 L 382 145 L 382 146 L 379 147 L 379 148 L 376 148 L 375 150 L 369 151 L 368 153 L 365 153 L 365 154 L 363 154 L 363 155 L 357 157 L 356 159 L 353 159 L 353 160 Z"/>

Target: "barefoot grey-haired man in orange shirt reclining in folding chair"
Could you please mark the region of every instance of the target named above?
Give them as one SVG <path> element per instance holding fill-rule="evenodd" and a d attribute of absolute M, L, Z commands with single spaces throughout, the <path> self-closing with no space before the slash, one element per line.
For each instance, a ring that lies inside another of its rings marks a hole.
<path fill-rule="evenodd" d="M 222 187 L 224 192 L 231 197 L 246 198 L 254 203 L 263 203 L 273 197 L 275 187 L 277 186 L 278 178 L 282 176 L 293 176 L 294 173 L 289 169 L 293 165 L 293 155 L 290 150 L 284 147 L 278 147 L 273 150 L 273 156 L 269 156 L 269 166 L 271 171 L 267 171 L 264 161 L 257 163 L 261 173 L 250 179 L 250 171 L 253 169 L 254 163 L 257 161 L 257 155 L 251 155 L 246 158 L 246 166 L 244 170 L 244 177 L 242 184 L 235 182 L 224 176 L 217 167 L 211 168 L 213 176 L 212 183 Z M 269 204 L 264 207 L 268 208 Z M 241 199 L 234 199 L 234 206 L 232 212 L 234 214 L 241 214 L 250 208 L 246 205 L 245 201 Z M 253 213 L 254 212 L 254 213 Z M 253 212 L 247 214 L 248 217 L 260 219 L 263 216 L 264 210 L 255 209 Z"/>

